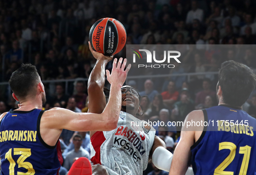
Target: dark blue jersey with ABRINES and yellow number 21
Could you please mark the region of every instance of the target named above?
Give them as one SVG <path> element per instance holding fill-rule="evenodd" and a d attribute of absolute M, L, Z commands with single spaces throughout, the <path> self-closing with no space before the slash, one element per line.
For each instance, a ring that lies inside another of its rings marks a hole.
<path fill-rule="evenodd" d="M 256 119 L 227 105 L 203 111 L 209 126 L 191 146 L 194 175 L 255 175 Z"/>

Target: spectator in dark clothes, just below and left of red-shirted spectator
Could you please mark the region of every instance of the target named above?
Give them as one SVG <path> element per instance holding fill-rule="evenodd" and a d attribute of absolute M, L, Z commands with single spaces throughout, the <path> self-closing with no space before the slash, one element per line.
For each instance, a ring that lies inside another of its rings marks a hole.
<path fill-rule="evenodd" d="M 159 111 L 163 108 L 167 107 L 163 103 L 162 95 L 156 94 L 153 101 L 149 105 L 148 110 L 145 112 L 145 115 L 149 117 L 159 115 Z"/>

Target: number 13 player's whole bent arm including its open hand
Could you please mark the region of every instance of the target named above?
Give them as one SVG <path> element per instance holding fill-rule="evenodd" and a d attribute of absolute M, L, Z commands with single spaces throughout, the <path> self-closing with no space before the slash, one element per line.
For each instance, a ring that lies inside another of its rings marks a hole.
<path fill-rule="evenodd" d="M 121 108 L 121 86 L 123 85 L 126 75 L 130 70 L 129 65 L 126 70 L 126 59 L 122 64 L 117 59 L 113 62 L 112 73 L 107 71 L 107 80 L 111 84 L 109 102 L 101 114 L 92 113 L 75 113 L 63 108 L 52 108 L 45 111 L 41 125 L 48 129 L 68 129 L 76 131 L 89 130 L 113 130 L 117 127 Z M 40 127 L 41 127 L 40 125 Z"/>

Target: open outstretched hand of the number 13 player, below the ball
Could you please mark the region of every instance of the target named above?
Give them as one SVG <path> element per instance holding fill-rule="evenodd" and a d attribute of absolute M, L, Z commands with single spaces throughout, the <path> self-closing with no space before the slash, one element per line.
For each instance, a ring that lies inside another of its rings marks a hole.
<path fill-rule="evenodd" d="M 123 61 L 123 64 L 122 64 Z M 123 85 L 123 83 L 126 80 L 126 76 L 127 73 L 129 72 L 130 68 L 131 68 L 131 64 L 128 65 L 128 67 L 126 67 L 126 62 L 127 59 L 125 58 L 123 60 L 123 58 L 120 58 L 117 64 L 117 58 L 114 59 L 113 61 L 113 68 L 112 68 L 112 72 L 110 74 L 109 70 L 106 70 L 106 75 L 107 75 L 107 81 L 112 84 L 112 83 L 118 83 L 121 86 Z"/>

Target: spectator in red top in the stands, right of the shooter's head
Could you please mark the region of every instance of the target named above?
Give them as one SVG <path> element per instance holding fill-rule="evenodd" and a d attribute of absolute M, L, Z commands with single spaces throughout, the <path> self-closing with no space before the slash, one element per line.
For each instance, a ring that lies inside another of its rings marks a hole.
<path fill-rule="evenodd" d="M 168 108 L 172 108 L 172 105 L 178 100 L 178 91 L 176 90 L 175 82 L 169 81 L 167 91 L 162 92 L 163 102 Z"/>

